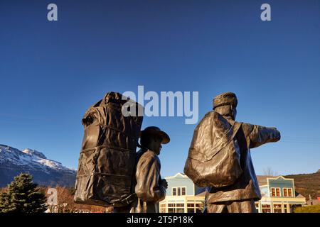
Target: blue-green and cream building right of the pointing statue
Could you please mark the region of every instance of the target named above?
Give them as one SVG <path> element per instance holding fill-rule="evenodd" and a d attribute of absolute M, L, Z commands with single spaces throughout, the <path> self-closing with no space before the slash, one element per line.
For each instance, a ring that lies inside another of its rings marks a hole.
<path fill-rule="evenodd" d="M 255 202 L 259 213 L 291 213 L 295 206 L 306 204 L 306 198 L 297 194 L 294 179 L 282 176 L 257 176 L 262 199 Z"/>

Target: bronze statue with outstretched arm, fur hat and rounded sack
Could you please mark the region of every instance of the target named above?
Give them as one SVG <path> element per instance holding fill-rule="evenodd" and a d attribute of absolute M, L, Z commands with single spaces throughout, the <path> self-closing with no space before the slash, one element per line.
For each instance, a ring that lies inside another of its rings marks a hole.
<path fill-rule="evenodd" d="M 277 128 L 235 121 L 238 99 L 226 92 L 213 99 L 213 111 L 193 133 L 184 172 L 199 187 L 210 187 L 208 213 L 253 213 L 261 199 L 250 148 L 277 142 Z"/>

